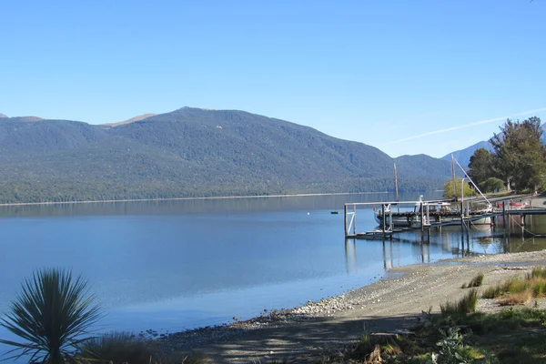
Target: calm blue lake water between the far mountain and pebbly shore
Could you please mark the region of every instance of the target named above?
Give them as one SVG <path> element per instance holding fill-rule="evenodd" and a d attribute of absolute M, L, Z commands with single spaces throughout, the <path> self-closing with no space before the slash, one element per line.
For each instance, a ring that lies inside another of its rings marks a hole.
<path fill-rule="evenodd" d="M 385 243 L 345 240 L 345 202 L 392 198 L 0 207 L 0 311 L 33 269 L 66 267 L 89 279 L 106 309 L 101 329 L 172 332 L 338 295 L 383 277 L 391 267 L 469 252 L 546 248 L 546 240 L 539 238 L 513 236 L 509 242 L 501 227 L 472 229 L 464 249 L 460 227 L 433 231 L 430 245 L 420 244 L 420 232 Z M 358 222 L 359 230 L 376 227 L 371 208 L 359 211 Z M 528 228 L 546 233 L 543 219 L 534 218 Z"/>

